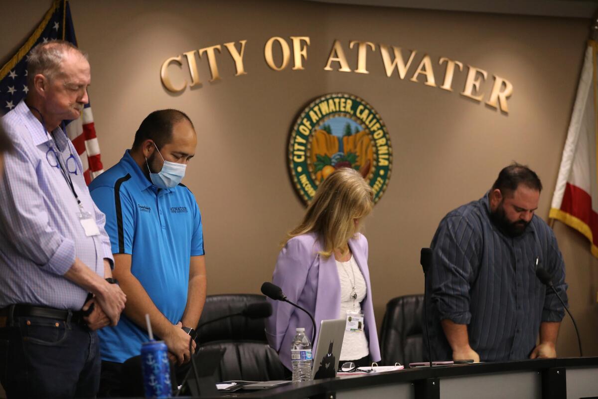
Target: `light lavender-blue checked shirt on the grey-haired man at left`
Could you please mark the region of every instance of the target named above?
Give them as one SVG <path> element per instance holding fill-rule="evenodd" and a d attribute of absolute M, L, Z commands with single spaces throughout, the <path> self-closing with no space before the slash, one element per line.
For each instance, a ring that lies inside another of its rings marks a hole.
<path fill-rule="evenodd" d="M 80 310 L 87 292 L 63 277 L 80 258 L 104 275 L 112 260 L 105 217 L 91 200 L 77 151 L 58 127 L 54 141 L 21 101 L 2 118 L 15 150 L 4 156 L 0 181 L 0 307 L 29 303 Z M 77 200 L 57 163 L 69 170 L 83 208 L 95 219 L 99 236 L 87 237 Z"/>

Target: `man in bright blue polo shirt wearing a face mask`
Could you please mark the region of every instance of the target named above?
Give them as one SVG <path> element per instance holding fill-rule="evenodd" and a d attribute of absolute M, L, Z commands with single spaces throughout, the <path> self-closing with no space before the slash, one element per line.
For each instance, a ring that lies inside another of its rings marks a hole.
<path fill-rule="evenodd" d="M 197 135 L 174 109 L 155 111 L 141 123 L 131 150 L 90 185 L 106 214 L 114 277 L 127 294 L 124 316 L 100 334 L 99 396 L 121 394 L 123 363 L 148 341 L 145 314 L 178 364 L 190 360 L 190 335 L 206 298 L 202 217 L 182 185 Z M 193 342 L 193 348 L 195 343 Z"/>

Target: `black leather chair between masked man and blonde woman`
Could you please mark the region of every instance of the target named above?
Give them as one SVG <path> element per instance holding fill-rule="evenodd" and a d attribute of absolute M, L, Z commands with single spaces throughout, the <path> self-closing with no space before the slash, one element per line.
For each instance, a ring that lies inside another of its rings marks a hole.
<path fill-rule="evenodd" d="M 197 351 L 201 359 L 202 351 L 226 349 L 216 380 L 266 381 L 285 379 L 289 375 L 276 351 L 266 341 L 264 319 L 232 316 L 201 327 L 221 316 L 240 313 L 249 303 L 258 301 L 266 301 L 266 297 L 257 294 L 222 294 L 206 298 L 197 328 Z"/>

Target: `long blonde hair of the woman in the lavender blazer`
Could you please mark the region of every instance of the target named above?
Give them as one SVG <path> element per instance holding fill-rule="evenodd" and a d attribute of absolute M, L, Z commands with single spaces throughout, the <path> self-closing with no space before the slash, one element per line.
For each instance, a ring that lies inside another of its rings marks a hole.
<path fill-rule="evenodd" d="M 345 252 L 347 242 L 359 231 L 354 220 L 366 217 L 373 207 L 374 191 L 367 181 L 356 170 L 341 167 L 320 184 L 303 221 L 283 244 L 292 237 L 316 233 L 323 243 L 322 256 L 328 258 L 335 249 Z"/>

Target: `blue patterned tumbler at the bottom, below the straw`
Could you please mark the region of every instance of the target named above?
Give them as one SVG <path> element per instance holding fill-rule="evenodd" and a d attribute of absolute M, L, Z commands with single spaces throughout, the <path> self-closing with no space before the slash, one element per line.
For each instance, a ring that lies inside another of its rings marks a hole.
<path fill-rule="evenodd" d="M 164 341 L 149 341 L 141 346 L 146 398 L 169 398 L 172 395 L 167 353 Z"/>

